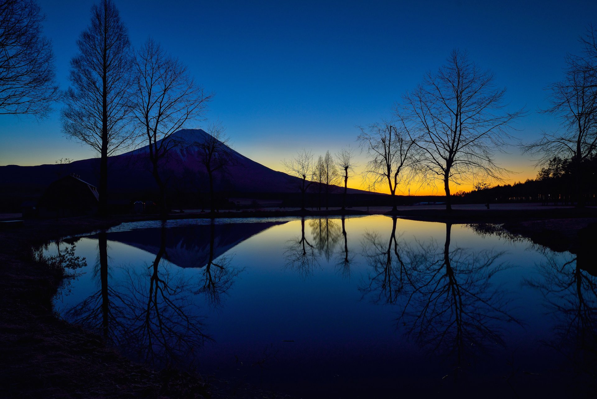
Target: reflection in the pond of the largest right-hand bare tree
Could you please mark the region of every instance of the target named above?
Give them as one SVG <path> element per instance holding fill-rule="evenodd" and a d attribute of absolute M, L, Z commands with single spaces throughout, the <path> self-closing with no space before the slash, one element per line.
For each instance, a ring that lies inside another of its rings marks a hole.
<path fill-rule="evenodd" d="M 454 355 L 460 366 L 465 349 L 474 354 L 494 343 L 503 346 L 500 326 L 519 322 L 507 311 L 504 291 L 491 282 L 507 267 L 498 263 L 503 253 L 450 250 L 450 233 L 447 224 L 443 248 L 433 243 L 436 251 L 422 254 L 431 258 L 420 263 L 418 284 L 408 294 L 399 321 L 421 346 Z"/>

